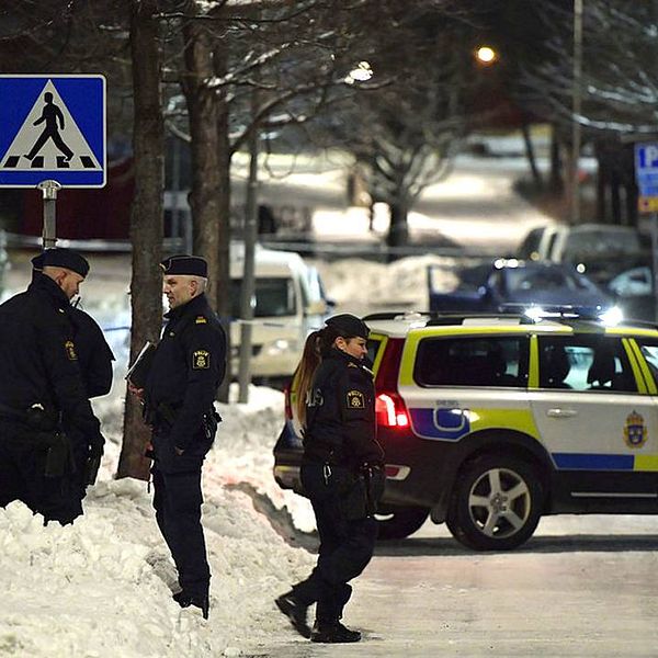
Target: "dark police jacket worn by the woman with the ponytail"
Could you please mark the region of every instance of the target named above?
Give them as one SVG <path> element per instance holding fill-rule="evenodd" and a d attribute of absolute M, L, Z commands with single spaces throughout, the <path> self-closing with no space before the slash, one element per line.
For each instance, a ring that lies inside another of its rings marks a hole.
<path fill-rule="evenodd" d="M 363 363 L 332 348 L 315 372 L 306 398 L 304 461 L 355 468 L 381 463 L 375 438 L 375 387 Z"/>

